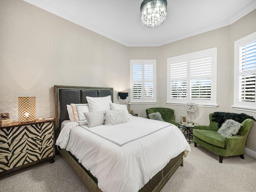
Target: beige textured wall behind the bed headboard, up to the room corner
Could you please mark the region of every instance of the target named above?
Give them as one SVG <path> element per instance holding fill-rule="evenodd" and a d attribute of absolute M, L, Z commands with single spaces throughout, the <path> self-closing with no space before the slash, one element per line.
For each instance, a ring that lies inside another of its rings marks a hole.
<path fill-rule="evenodd" d="M 22 0 L 0 9 L 0 112 L 14 121 L 18 96 L 36 96 L 36 117 L 53 117 L 54 85 L 128 89 L 126 46 Z"/>

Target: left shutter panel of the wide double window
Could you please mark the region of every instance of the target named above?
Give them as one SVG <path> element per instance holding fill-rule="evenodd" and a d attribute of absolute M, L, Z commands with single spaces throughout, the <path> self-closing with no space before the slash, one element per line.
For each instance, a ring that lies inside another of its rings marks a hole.
<path fill-rule="evenodd" d="M 187 98 L 187 60 L 170 62 L 170 98 Z"/>

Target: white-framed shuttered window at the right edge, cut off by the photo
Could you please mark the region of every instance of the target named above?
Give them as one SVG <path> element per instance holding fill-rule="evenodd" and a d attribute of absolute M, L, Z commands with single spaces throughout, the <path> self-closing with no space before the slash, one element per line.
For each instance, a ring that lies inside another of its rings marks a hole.
<path fill-rule="evenodd" d="M 256 32 L 234 44 L 234 105 L 236 110 L 256 112 Z"/>

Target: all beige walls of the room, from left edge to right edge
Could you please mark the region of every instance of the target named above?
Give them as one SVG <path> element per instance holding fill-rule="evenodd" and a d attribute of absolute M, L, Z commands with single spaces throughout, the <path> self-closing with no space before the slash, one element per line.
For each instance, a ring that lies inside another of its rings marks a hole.
<path fill-rule="evenodd" d="M 180 121 L 189 116 L 184 106 L 166 104 L 167 58 L 213 47 L 218 48 L 219 106 L 200 107 L 192 119 L 208 124 L 210 112 L 243 112 L 231 107 L 234 41 L 256 31 L 256 10 L 230 26 L 164 46 L 126 47 L 22 0 L 0 0 L 0 9 L 0 112 L 13 120 L 18 120 L 18 96 L 36 96 L 36 117 L 53 117 L 54 85 L 113 87 L 114 102 L 122 103 L 117 92 L 129 91 L 129 60 L 156 59 L 158 104 L 131 108 L 142 117 L 149 107 L 173 108 Z M 246 147 L 256 152 L 255 124 Z"/>

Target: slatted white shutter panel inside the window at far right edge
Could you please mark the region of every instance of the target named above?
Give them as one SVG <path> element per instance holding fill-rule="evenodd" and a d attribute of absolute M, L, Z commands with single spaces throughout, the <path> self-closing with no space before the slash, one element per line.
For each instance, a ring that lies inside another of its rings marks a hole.
<path fill-rule="evenodd" d="M 256 41 L 239 47 L 238 100 L 255 102 Z"/>

